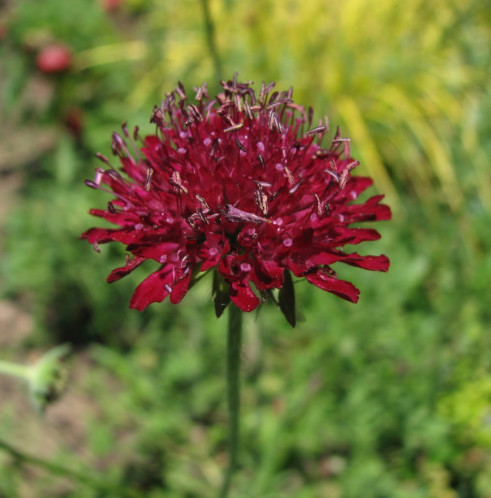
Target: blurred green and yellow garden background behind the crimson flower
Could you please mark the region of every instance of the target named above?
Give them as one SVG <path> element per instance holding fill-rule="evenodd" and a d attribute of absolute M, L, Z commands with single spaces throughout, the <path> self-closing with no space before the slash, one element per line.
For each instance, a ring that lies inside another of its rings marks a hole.
<path fill-rule="evenodd" d="M 237 497 L 491 497 L 491 9 L 485 0 L 7 0 L 0 7 L 0 358 L 69 343 L 43 418 L 0 378 L 0 440 L 149 497 L 213 497 L 227 462 L 225 327 L 109 286 L 122 249 L 78 239 L 123 121 L 151 133 L 178 81 L 276 81 L 352 138 L 393 220 L 340 268 L 346 303 L 246 316 Z M 0 450 L 0 496 L 106 497 Z"/>

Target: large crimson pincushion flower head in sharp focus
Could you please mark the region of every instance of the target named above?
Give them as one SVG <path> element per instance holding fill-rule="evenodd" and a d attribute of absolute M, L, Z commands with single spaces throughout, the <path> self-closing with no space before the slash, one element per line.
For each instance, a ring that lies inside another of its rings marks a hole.
<path fill-rule="evenodd" d="M 358 165 L 339 130 L 326 148 L 327 119 L 312 126 L 312 110 L 292 100 L 292 90 L 262 84 L 222 82 L 210 99 L 206 84 L 194 103 L 182 84 L 155 107 L 155 135 L 113 135 L 120 172 L 97 169 L 92 188 L 113 195 L 94 216 L 117 228 L 92 228 L 82 237 L 94 244 L 117 241 L 126 264 L 108 282 L 145 260 L 157 267 L 136 288 L 130 307 L 145 309 L 170 296 L 178 303 L 200 275 L 212 271 L 215 309 L 231 300 L 251 311 L 270 296 L 295 322 L 291 274 L 351 302 L 359 290 L 331 267 L 342 262 L 387 271 L 386 256 L 361 256 L 344 246 L 377 240 L 364 221 L 387 220 L 382 195 L 353 201 L 372 184 L 352 176 Z M 141 146 L 137 146 L 141 144 Z M 251 287 L 253 284 L 253 287 Z M 274 296 L 273 290 L 280 289 Z"/>

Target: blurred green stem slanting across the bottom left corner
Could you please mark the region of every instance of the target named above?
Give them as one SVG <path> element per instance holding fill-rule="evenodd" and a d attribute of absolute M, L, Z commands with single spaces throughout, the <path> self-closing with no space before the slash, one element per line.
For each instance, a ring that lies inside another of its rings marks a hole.
<path fill-rule="evenodd" d="M 22 463 L 28 463 L 31 465 L 36 465 L 37 467 L 40 467 L 44 470 L 47 470 L 51 474 L 59 475 L 61 477 L 69 477 L 72 479 L 77 480 L 78 482 L 82 484 L 87 484 L 93 488 L 97 488 L 100 490 L 105 490 L 105 491 L 111 491 L 113 493 L 118 493 L 118 496 L 124 496 L 128 498 L 133 498 L 133 497 L 140 497 L 141 495 L 131 489 L 128 488 L 121 488 L 119 486 L 113 486 L 111 484 L 107 484 L 103 482 L 102 480 L 89 477 L 85 474 L 82 474 L 80 472 L 76 472 L 75 470 L 68 469 L 67 467 L 64 467 L 62 465 L 58 465 L 56 463 L 52 462 L 47 462 L 45 460 L 42 460 L 41 458 L 32 456 L 32 455 L 27 455 L 26 453 L 21 452 L 20 450 L 14 448 L 10 444 L 6 443 L 5 441 L 2 441 L 0 439 L 0 449 L 6 451 L 9 453 L 12 457 L 14 457 L 17 461 L 22 462 Z"/>

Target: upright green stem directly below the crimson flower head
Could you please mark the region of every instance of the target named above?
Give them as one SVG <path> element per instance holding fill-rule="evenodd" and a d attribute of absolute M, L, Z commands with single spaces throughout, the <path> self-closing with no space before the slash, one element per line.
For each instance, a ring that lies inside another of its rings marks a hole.
<path fill-rule="evenodd" d="M 240 344 L 242 312 L 230 303 L 227 336 L 227 397 L 229 411 L 229 464 L 223 480 L 220 498 L 227 498 L 232 476 L 238 467 L 240 439 Z"/>

